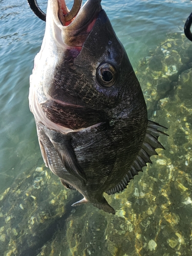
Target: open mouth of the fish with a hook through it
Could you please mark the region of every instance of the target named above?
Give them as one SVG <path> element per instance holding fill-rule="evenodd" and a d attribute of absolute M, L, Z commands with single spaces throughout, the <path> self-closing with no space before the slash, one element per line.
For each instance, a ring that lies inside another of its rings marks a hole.
<path fill-rule="evenodd" d="M 102 10 L 101 0 L 88 0 L 82 7 L 81 2 L 75 0 L 71 11 L 65 0 L 51 0 L 48 5 L 47 23 L 53 19 L 54 35 L 59 29 L 63 44 L 69 47 L 82 47 Z"/>

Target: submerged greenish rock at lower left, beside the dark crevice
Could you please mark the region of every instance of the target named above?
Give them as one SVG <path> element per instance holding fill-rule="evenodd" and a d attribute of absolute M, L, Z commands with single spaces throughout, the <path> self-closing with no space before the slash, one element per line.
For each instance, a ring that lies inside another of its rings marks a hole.
<path fill-rule="evenodd" d="M 65 223 L 76 194 L 46 167 L 20 175 L 0 196 L 0 254 L 36 255 Z"/>

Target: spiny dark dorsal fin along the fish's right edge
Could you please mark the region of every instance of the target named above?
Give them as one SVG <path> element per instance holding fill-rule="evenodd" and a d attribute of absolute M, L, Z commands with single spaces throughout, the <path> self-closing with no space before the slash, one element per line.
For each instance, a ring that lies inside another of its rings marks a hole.
<path fill-rule="evenodd" d="M 158 129 L 161 127 L 166 129 L 166 127 L 156 122 L 148 120 L 143 144 L 135 161 L 131 165 L 125 177 L 115 187 L 106 191 L 108 195 L 119 193 L 120 191 L 124 190 L 124 188 L 126 188 L 130 180 L 133 179 L 134 176 L 138 174 L 138 172 L 142 172 L 142 167 L 146 166 L 146 163 L 152 163 L 150 157 L 158 155 L 157 152 L 155 151 L 156 148 L 165 149 L 163 145 L 158 141 L 158 137 L 160 134 L 167 135 L 162 131 L 158 131 Z"/>

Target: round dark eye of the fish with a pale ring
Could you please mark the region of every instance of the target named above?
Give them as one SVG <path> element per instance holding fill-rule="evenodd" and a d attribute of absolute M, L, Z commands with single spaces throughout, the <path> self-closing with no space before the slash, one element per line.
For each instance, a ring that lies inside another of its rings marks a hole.
<path fill-rule="evenodd" d="M 97 80 L 104 87 L 111 87 L 117 80 L 117 71 L 110 63 L 102 63 L 97 68 Z"/>

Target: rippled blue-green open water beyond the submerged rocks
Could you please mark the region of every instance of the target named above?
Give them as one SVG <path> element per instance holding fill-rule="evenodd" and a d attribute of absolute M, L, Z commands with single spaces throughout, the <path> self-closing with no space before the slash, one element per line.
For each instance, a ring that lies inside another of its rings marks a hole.
<path fill-rule="evenodd" d="M 67 3 L 70 7 L 73 2 Z M 46 11 L 47 1 L 39 0 L 38 4 Z M 139 60 L 168 33 L 183 31 L 192 2 L 102 0 L 102 7 L 137 70 Z M 34 15 L 25 0 L 0 0 L 0 10 L 0 193 L 3 193 L 20 174 L 43 163 L 28 93 L 29 76 L 45 23 Z"/>

